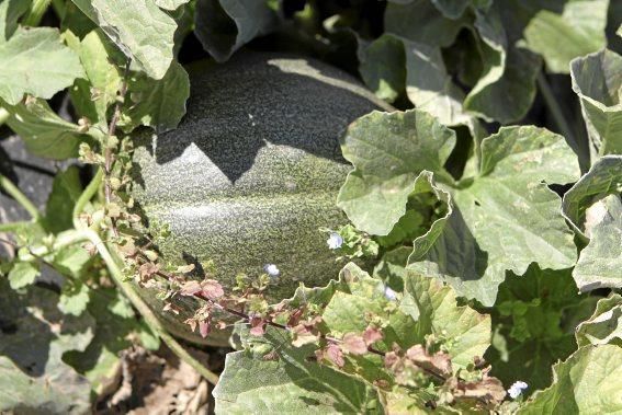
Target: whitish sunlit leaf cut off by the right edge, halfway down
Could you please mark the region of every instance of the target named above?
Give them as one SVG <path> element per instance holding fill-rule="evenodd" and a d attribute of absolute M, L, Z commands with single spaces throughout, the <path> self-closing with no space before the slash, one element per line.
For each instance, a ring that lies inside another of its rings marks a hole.
<path fill-rule="evenodd" d="M 590 241 L 581 251 L 573 277 L 581 291 L 622 287 L 622 200 L 609 195 L 587 210 Z"/>

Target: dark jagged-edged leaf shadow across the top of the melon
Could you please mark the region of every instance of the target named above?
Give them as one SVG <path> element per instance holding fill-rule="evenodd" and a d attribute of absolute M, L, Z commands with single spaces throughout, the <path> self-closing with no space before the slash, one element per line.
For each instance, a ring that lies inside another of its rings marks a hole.
<path fill-rule="evenodd" d="M 294 73 L 301 66 L 305 74 Z M 245 51 L 224 65 L 194 65 L 189 72 L 183 122 L 138 145 L 159 165 L 203 153 L 231 184 L 251 169 L 262 148 L 273 145 L 347 164 L 340 135 L 378 107 L 350 76 L 296 56 Z"/>

